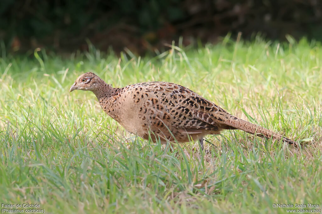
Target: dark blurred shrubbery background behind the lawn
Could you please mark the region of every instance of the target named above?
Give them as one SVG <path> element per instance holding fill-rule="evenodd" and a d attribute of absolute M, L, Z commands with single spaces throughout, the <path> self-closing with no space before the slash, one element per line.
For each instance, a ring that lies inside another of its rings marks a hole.
<path fill-rule="evenodd" d="M 1 48 L 11 53 L 84 51 L 91 43 L 144 55 L 180 36 L 187 46 L 238 32 L 321 40 L 321 0 L 0 0 Z"/>

